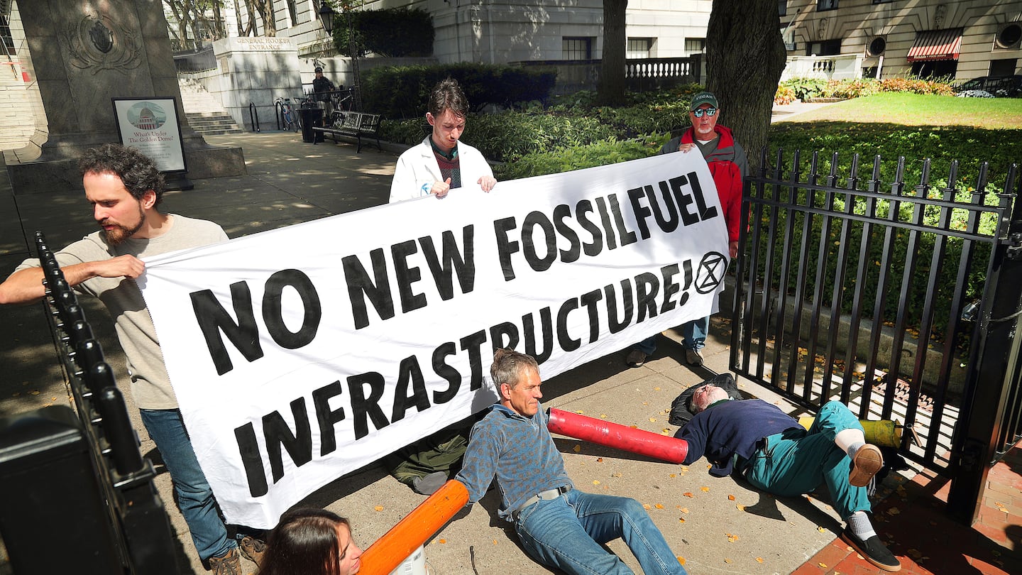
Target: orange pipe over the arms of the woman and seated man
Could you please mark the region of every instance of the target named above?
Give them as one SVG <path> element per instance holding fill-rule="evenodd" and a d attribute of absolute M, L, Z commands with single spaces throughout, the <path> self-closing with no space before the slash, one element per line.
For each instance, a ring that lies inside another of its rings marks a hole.
<path fill-rule="evenodd" d="M 465 504 L 468 489 L 455 479 L 419 503 L 405 519 L 362 554 L 359 575 L 388 575 L 408 559 L 419 545 L 444 527 Z"/>

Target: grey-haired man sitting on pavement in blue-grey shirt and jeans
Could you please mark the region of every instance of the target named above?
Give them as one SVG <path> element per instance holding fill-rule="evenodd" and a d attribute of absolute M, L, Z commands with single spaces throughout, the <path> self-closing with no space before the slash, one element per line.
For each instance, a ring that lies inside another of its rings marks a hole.
<path fill-rule="evenodd" d="M 482 498 L 497 477 L 499 516 L 536 561 L 566 573 L 632 573 L 602 544 L 620 537 L 646 575 L 684 574 L 649 514 L 635 499 L 574 489 L 547 430 L 536 360 L 512 350 L 494 354 L 491 375 L 500 402 L 472 428 L 457 479 L 468 500 Z"/>

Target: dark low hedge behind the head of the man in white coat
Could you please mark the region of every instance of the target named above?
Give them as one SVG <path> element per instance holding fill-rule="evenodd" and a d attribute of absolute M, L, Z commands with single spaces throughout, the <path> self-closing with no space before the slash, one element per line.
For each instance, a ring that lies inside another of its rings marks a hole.
<path fill-rule="evenodd" d="M 362 76 L 362 101 L 367 112 L 390 119 L 421 118 L 429 92 L 437 82 L 454 78 L 475 109 L 489 104 L 512 107 L 546 101 L 557 80 L 552 70 L 482 63 L 375 68 Z"/>

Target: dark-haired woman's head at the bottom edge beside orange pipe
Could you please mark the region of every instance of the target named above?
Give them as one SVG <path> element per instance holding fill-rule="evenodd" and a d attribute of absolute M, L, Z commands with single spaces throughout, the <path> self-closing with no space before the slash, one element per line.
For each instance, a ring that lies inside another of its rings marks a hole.
<path fill-rule="evenodd" d="M 326 510 L 301 507 L 280 517 L 270 533 L 261 575 L 355 575 L 362 549 L 347 520 Z"/>

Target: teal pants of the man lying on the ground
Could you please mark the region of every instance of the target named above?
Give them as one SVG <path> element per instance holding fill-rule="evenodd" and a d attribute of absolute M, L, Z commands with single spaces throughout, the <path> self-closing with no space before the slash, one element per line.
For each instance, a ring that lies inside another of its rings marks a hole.
<path fill-rule="evenodd" d="M 766 438 L 766 447 L 749 458 L 745 478 L 755 487 L 781 496 L 808 493 L 826 483 L 841 519 L 870 511 L 865 487 L 848 484 L 851 460 L 834 444 L 834 436 L 863 426 L 839 401 L 826 403 L 809 431 L 789 429 Z"/>

